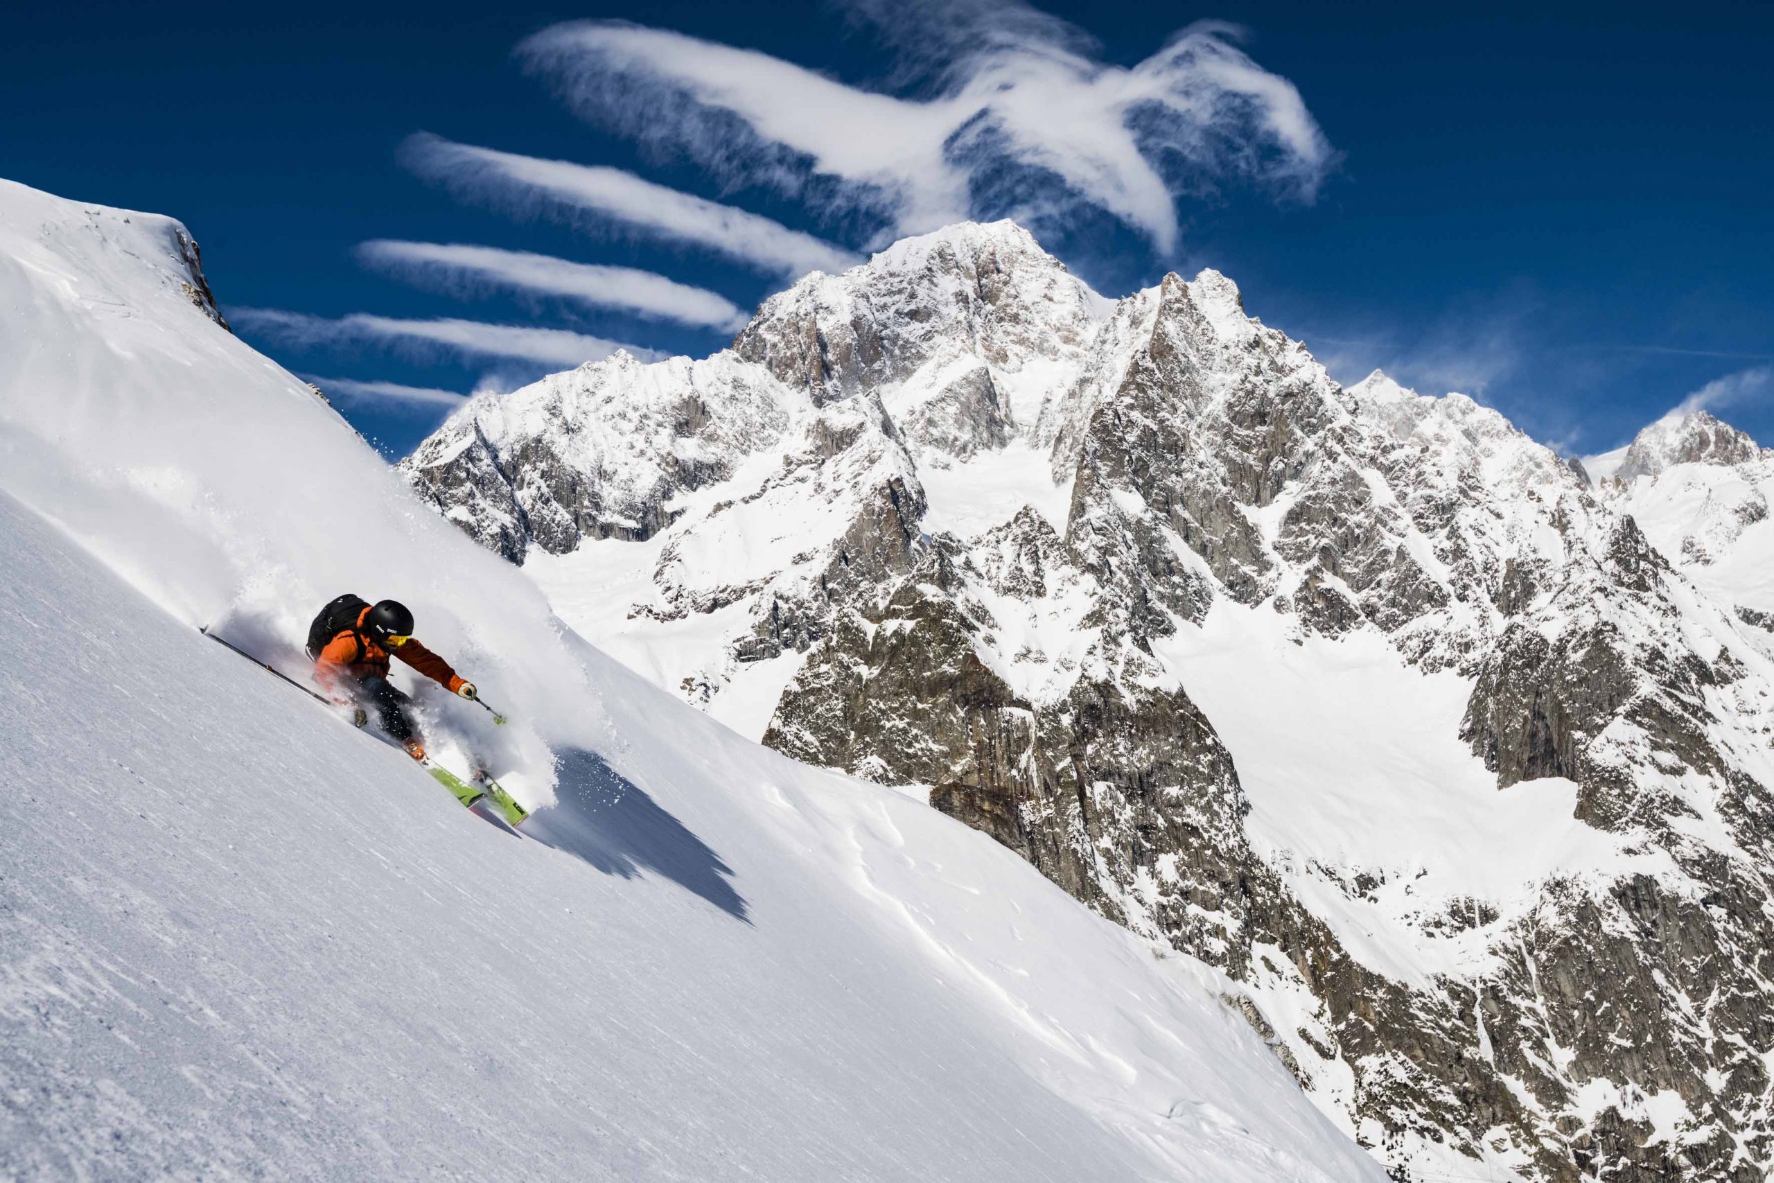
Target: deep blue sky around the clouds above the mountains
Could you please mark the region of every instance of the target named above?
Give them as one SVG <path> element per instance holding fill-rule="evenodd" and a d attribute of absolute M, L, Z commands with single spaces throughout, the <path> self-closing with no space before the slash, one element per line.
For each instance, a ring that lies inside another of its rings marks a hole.
<path fill-rule="evenodd" d="M 1043 5 L 1132 64 L 1201 18 L 1251 30 L 1341 153 L 1316 204 L 1231 186 L 1185 202 L 1183 245 L 1073 248 L 1105 294 L 1217 266 L 1251 312 L 1339 378 L 1385 365 L 1467 388 L 1572 450 L 1623 442 L 1687 392 L 1774 360 L 1774 5 Z M 369 238 L 488 243 L 658 270 L 743 307 L 772 280 L 463 206 L 394 160 L 428 129 L 610 163 L 722 197 L 587 128 L 511 60 L 559 20 L 628 18 L 763 50 L 852 83 L 891 60 L 820 4 L 30 4 L 0 16 L 0 176 L 169 213 L 224 305 L 573 325 L 706 353 L 720 333 L 461 302 L 364 271 Z M 791 204 L 729 200 L 812 227 Z M 827 234 L 832 231 L 827 227 Z M 860 243 L 846 243 L 857 247 Z M 252 339 L 252 337 L 248 337 Z M 488 369 L 373 349 L 293 351 L 298 372 L 470 388 Z M 507 367 L 509 369 L 509 367 Z M 523 376 L 509 372 L 507 378 Z M 436 408 L 344 408 L 401 454 Z M 1719 413 L 1774 443 L 1774 392 Z"/>

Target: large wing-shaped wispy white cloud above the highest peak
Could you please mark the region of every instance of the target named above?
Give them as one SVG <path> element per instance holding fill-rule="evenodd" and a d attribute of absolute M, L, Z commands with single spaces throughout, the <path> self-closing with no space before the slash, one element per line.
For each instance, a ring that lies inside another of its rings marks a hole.
<path fill-rule="evenodd" d="M 887 4 L 853 16 L 901 55 L 912 98 L 616 21 L 518 46 L 582 117 L 729 184 L 765 184 L 887 236 L 965 218 L 1041 223 L 1095 208 L 1178 243 L 1176 197 L 1244 179 L 1313 200 L 1334 153 L 1286 78 L 1197 23 L 1132 67 L 1017 0 Z"/>

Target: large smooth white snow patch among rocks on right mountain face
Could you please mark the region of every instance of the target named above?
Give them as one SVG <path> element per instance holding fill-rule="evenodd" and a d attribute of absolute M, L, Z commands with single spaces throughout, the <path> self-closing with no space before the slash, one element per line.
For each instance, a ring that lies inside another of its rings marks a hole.
<path fill-rule="evenodd" d="M 1490 924 L 1426 931 L 1449 908 L 1483 901 L 1506 922 L 1545 880 L 1660 858 L 1577 821 L 1570 780 L 1499 789 L 1460 741 L 1471 683 L 1407 667 L 1375 631 L 1297 639 L 1267 607 L 1222 599 L 1155 651 L 1233 754 L 1265 860 L 1396 981 L 1483 970 Z M 1361 873 L 1380 881 L 1371 894 L 1350 890 Z"/>

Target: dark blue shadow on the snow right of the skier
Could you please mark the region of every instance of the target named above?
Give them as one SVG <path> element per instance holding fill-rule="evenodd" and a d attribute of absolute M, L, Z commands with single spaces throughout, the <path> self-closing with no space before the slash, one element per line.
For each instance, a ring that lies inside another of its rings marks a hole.
<path fill-rule="evenodd" d="M 596 752 L 561 752 L 555 798 L 523 823 L 525 837 L 624 880 L 653 871 L 750 924 L 745 897 L 727 881 L 733 867 Z"/>

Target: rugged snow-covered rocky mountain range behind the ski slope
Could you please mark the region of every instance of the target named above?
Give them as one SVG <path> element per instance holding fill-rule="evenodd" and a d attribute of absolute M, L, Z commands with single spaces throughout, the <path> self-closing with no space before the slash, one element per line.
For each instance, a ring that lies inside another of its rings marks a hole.
<path fill-rule="evenodd" d="M 1591 486 L 1004 222 L 403 472 L 655 685 L 1224 970 L 1396 1172 L 1637 1183 L 1774 1162 L 1769 463 L 1685 417 Z"/>

